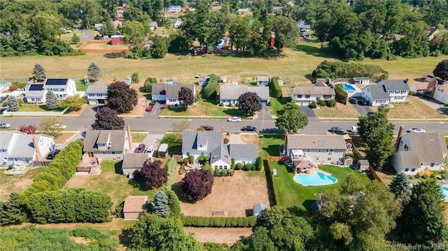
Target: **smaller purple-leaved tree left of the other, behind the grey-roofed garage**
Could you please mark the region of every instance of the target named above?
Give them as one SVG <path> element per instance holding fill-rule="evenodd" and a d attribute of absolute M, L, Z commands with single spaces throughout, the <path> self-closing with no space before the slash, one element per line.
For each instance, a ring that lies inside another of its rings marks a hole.
<path fill-rule="evenodd" d="M 167 168 L 162 168 L 160 159 L 155 162 L 151 160 L 145 162 L 140 169 L 140 175 L 148 188 L 162 187 L 168 179 Z"/>

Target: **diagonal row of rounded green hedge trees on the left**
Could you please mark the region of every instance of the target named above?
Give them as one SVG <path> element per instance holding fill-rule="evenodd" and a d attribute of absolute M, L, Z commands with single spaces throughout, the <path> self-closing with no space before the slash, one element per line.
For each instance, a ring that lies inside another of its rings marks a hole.
<path fill-rule="evenodd" d="M 42 173 L 36 175 L 25 195 L 55 191 L 64 187 L 83 156 L 83 141 L 73 141 L 64 148 Z"/>

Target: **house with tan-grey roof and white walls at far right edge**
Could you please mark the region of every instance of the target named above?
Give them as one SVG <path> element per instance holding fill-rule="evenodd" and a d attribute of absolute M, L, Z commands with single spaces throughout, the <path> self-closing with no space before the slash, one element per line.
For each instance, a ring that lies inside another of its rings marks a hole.
<path fill-rule="evenodd" d="M 397 145 L 391 164 L 397 173 L 407 175 L 427 169 L 440 171 L 448 152 L 444 136 L 436 133 L 407 133 L 397 139 Z"/>

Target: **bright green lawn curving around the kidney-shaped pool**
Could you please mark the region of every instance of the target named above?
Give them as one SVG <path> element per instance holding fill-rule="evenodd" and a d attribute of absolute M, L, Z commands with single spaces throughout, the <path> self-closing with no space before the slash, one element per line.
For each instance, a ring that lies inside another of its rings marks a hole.
<path fill-rule="evenodd" d="M 332 174 L 337 178 L 334 185 L 325 185 L 318 187 L 304 187 L 293 180 L 294 173 L 284 164 L 269 162 L 271 168 L 276 168 L 277 176 L 274 176 L 274 188 L 279 206 L 284 208 L 298 208 L 299 210 L 311 210 L 311 205 L 316 202 L 317 194 L 328 191 L 328 189 L 339 189 L 340 182 L 346 178 L 349 173 L 355 173 L 362 180 L 363 184 L 370 182 L 369 176 L 365 173 L 358 173 L 351 168 L 342 168 L 339 166 L 323 165 L 319 168 Z"/>

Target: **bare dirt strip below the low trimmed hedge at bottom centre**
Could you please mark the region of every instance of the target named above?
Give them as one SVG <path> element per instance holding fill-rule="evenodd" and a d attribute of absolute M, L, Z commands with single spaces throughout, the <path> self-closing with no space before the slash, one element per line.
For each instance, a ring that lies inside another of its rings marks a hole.
<path fill-rule="evenodd" d="M 233 245 L 241 239 L 241 236 L 250 236 L 250 227 L 184 227 L 186 233 L 195 234 L 197 241 L 201 243 L 226 243 Z"/>

